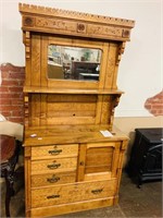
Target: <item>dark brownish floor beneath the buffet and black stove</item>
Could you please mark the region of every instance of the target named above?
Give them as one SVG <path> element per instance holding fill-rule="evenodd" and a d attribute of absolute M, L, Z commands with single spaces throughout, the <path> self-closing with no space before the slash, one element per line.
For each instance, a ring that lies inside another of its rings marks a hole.
<path fill-rule="evenodd" d="M 24 217 L 24 187 L 23 184 L 16 184 L 15 189 L 17 193 L 11 199 L 11 216 Z M 4 189 L 2 185 L 1 192 L 1 217 L 4 217 Z M 121 190 L 120 190 L 120 203 L 114 207 L 106 207 L 93 210 L 87 210 L 82 213 L 75 213 L 64 216 L 58 216 L 58 218 L 75 218 L 75 217 L 162 217 L 162 182 L 143 183 L 141 189 L 138 189 L 136 184 L 131 182 L 128 175 L 123 172 Z"/>

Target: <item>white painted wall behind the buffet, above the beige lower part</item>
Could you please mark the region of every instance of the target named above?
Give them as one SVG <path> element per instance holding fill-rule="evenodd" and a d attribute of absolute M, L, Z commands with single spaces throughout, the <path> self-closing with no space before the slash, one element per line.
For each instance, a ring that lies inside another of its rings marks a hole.
<path fill-rule="evenodd" d="M 135 20 L 120 64 L 118 88 L 125 94 L 116 116 L 150 116 L 143 104 L 161 92 L 163 81 L 162 0 L 1 0 L 1 63 L 25 64 L 18 2 Z"/>

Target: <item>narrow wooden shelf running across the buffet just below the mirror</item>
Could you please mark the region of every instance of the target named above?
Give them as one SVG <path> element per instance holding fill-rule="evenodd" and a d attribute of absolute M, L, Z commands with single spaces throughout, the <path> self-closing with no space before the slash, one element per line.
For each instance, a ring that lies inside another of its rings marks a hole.
<path fill-rule="evenodd" d="M 37 86 L 24 86 L 24 93 L 45 93 L 45 94 L 109 94 L 109 95 L 122 95 L 124 92 L 118 89 L 72 89 L 72 88 L 47 88 Z"/>

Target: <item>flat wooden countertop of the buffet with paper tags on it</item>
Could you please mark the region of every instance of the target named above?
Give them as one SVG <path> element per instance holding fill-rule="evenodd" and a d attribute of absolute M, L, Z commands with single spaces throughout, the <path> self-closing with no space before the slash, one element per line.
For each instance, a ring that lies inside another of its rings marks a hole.
<path fill-rule="evenodd" d="M 71 144 L 71 143 L 98 143 L 128 140 L 116 128 L 113 129 L 110 137 L 104 137 L 100 131 L 108 130 L 106 125 L 55 125 L 38 126 L 25 130 L 25 146 Z"/>

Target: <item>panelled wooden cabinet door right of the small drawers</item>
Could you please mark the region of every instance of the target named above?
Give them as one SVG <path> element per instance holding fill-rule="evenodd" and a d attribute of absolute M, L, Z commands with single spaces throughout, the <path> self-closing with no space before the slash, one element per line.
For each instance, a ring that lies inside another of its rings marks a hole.
<path fill-rule="evenodd" d="M 78 181 L 116 177 L 121 142 L 80 144 Z"/>

